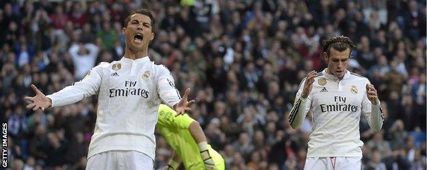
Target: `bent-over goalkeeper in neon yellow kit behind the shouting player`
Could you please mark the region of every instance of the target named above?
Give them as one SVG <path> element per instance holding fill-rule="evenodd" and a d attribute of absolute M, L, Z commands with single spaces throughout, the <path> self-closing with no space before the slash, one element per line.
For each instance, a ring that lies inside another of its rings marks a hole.
<path fill-rule="evenodd" d="M 181 162 L 185 169 L 225 169 L 224 159 L 207 144 L 200 124 L 187 114 L 178 115 L 165 104 L 159 106 L 156 129 L 163 136 L 174 155 L 166 170 L 178 169 Z"/>

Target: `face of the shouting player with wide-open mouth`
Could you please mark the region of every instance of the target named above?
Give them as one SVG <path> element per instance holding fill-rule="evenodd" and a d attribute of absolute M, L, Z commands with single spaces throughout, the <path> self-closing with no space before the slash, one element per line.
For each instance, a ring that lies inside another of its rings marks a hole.
<path fill-rule="evenodd" d="M 141 51 L 148 48 L 148 44 L 154 38 L 151 31 L 151 19 L 143 14 L 133 14 L 127 27 L 122 29 L 126 36 L 126 45 L 131 50 Z"/>

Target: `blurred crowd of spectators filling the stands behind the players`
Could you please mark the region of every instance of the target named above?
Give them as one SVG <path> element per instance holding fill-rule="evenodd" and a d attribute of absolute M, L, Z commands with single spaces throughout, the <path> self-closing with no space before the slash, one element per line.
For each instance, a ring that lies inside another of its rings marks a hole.
<path fill-rule="evenodd" d="M 322 40 L 357 45 L 349 70 L 378 90 L 385 123 L 360 124 L 363 169 L 426 169 L 426 1 L 159 0 L 1 1 L 0 117 L 10 169 L 85 169 L 96 98 L 46 111 L 25 109 L 34 83 L 52 94 L 124 53 L 125 17 L 153 11 L 149 56 L 179 91 L 226 169 L 302 169 L 311 117 L 289 126 L 300 81 L 321 72 Z M 182 95 L 182 94 L 181 94 Z M 156 136 L 155 169 L 170 147 Z"/>

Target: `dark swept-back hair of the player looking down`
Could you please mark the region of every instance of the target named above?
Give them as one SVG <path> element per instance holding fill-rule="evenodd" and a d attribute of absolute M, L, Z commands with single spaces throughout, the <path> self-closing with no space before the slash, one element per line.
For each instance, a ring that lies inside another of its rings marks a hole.
<path fill-rule="evenodd" d="M 335 36 L 333 38 L 330 38 L 329 40 L 323 41 L 323 52 L 326 52 L 326 54 L 331 55 L 331 48 L 334 48 L 336 51 L 346 51 L 347 48 L 350 48 L 350 54 L 351 51 L 356 47 L 354 45 L 354 42 L 350 40 L 350 38 L 346 36 Z M 350 57 L 350 56 L 349 56 Z"/>

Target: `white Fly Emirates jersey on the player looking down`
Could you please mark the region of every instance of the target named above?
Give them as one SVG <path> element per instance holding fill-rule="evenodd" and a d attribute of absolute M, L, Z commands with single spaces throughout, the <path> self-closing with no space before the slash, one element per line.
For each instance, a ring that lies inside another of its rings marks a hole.
<path fill-rule="evenodd" d="M 300 98 L 304 83 L 305 79 L 296 94 L 289 122 L 298 128 L 307 113 L 312 114 L 313 131 L 309 137 L 307 158 L 362 156 L 361 115 L 376 131 L 384 121 L 379 102 L 373 105 L 367 98 L 366 85 L 370 81 L 349 71 L 340 81 L 323 70 L 316 74 L 307 99 Z"/>

